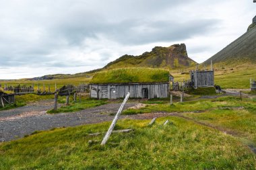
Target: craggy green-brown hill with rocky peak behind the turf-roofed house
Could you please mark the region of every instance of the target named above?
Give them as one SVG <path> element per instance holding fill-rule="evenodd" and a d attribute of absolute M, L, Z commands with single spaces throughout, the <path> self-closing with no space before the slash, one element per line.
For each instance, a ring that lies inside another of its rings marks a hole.
<path fill-rule="evenodd" d="M 174 44 L 169 47 L 156 46 L 151 52 L 139 56 L 125 54 L 102 69 L 117 69 L 124 67 L 150 67 L 162 69 L 177 69 L 195 65 L 196 62 L 187 56 L 185 44 Z"/>

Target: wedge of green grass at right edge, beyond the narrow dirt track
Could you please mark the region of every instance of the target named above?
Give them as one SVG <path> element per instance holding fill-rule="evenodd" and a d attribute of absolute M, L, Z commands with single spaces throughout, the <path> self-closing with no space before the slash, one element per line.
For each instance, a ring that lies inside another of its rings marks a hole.
<path fill-rule="evenodd" d="M 200 122 L 212 124 L 252 140 L 256 145 L 256 100 L 229 97 L 225 105 L 197 114 L 184 114 Z M 223 102 L 225 98 L 215 102 Z"/>

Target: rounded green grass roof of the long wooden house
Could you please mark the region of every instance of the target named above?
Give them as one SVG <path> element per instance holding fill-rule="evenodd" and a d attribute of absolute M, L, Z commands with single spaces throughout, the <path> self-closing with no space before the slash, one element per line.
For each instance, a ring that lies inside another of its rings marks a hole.
<path fill-rule="evenodd" d="M 90 83 L 157 83 L 168 82 L 170 73 L 163 69 L 125 68 L 101 71 Z"/>

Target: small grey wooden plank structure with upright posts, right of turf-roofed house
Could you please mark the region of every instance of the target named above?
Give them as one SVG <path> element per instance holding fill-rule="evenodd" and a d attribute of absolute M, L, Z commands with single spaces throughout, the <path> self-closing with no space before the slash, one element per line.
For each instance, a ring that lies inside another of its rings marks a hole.
<path fill-rule="evenodd" d="M 191 85 L 196 89 L 197 87 L 214 87 L 214 70 L 212 69 L 211 61 L 211 70 L 199 71 L 197 68 L 195 71 L 190 72 Z"/>

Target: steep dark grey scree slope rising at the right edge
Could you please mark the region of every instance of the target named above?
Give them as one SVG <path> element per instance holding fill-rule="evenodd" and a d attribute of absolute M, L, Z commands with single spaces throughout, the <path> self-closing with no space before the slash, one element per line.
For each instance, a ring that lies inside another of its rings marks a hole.
<path fill-rule="evenodd" d="M 245 62 L 256 62 L 256 24 L 251 24 L 245 34 L 234 40 L 220 52 L 203 62 L 203 65 L 210 65 L 210 62 L 225 65 L 242 64 Z"/>

